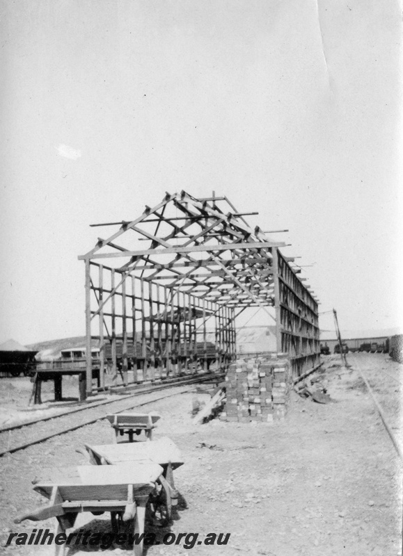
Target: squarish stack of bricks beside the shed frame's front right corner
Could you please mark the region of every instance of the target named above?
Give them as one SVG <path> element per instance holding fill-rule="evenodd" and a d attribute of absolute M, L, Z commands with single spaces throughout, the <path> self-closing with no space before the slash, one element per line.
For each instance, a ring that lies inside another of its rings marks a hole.
<path fill-rule="evenodd" d="M 226 376 L 228 421 L 271 423 L 287 411 L 290 391 L 290 363 L 284 357 L 238 359 Z"/>

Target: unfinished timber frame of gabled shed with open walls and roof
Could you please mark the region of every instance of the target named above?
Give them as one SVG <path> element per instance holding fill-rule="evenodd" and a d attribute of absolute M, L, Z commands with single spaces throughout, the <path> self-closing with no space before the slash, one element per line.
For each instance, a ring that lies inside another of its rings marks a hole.
<path fill-rule="evenodd" d="M 276 320 L 277 351 L 297 376 L 319 361 L 317 300 L 281 254 L 285 243 L 248 226 L 227 197 L 166 193 L 79 256 L 86 274 L 86 392 L 93 367 L 134 382 L 225 369 L 236 357 L 235 319 L 260 307 Z M 118 243 L 117 243 L 118 242 Z M 143 243 L 146 242 L 146 243 Z M 105 264 L 107 263 L 107 264 Z M 274 307 L 269 311 L 268 307 Z M 274 314 L 273 314 L 274 313 Z M 207 323 L 214 322 L 214 345 Z M 100 359 L 91 357 L 92 342 Z"/>

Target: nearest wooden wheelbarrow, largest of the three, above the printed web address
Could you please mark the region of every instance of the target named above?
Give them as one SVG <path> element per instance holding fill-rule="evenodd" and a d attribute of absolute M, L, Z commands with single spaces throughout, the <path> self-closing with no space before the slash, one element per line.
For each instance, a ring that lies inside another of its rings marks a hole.
<path fill-rule="evenodd" d="M 70 482 L 57 484 L 36 484 L 34 490 L 49 499 L 45 508 L 17 517 L 14 522 L 25 519 L 40 521 L 56 517 L 56 534 L 65 533 L 72 528 L 77 515 L 81 512 L 111 512 L 122 516 L 123 521 L 134 523 L 134 534 L 143 534 L 145 505 L 155 483 L 161 475 L 161 466 L 148 462 L 142 464 L 123 464 L 121 466 L 81 466 L 77 468 L 78 478 Z M 56 535 L 55 535 L 56 537 Z M 55 544 L 55 555 L 65 553 L 66 544 Z M 134 543 L 134 556 L 142 556 L 143 541 Z"/>

